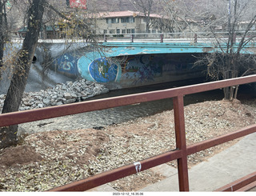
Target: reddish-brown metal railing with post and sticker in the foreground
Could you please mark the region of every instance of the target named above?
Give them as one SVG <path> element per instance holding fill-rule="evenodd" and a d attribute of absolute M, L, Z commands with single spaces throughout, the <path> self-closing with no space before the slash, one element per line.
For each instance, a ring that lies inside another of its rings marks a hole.
<path fill-rule="evenodd" d="M 235 138 L 240 138 L 247 134 L 256 132 L 256 125 L 247 126 L 241 130 L 234 131 L 230 134 L 225 134 L 212 138 L 203 142 L 198 142 L 191 146 L 186 146 L 186 131 L 184 118 L 183 96 L 186 94 L 195 94 L 207 90 L 215 90 L 226 86 L 237 86 L 250 82 L 256 82 L 256 74 L 242 78 L 233 78 L 218 82 L 209 82 L 192 86 L 183 86 L 168 90 L 157 90 L 142 94 L 130 94 L 114 98 L 103 98 L 94 101 L 77 102 L 62 106 L 52 106 L 36 110 L 26 110 L 14 112 L 10 114 L 0 115 L 0 127 L 10 126 L 24 122 L 33 122 L 46 118 L 56 118 L 70 114 L 78 114 L 93 110 L 103 110 L 116 106 L 126 106 L 139 102 L 150 102 L 154 100 L 173 98 L 174 102 L 174 123 L 176 135 L 176 150 L 159 154 L 153 158 L 147 158 L 141 162 L 132 163 L 128 166 L 122 166 L 118 169 L 96 174 L 90 178 L 72 182 L 65 186 L 54 188 L 50 191 L 83 191 L 90 190 L 96 186 L 113 182 L 119 178 L 124 178 L 138 171 L 148 170 L 154 166 L 161 165 L 166 162 L 178 160 L 178 182 L 180 191 L 189 191 L 187 156 L 198 151 L 208 149 L 212 146 L 217 146 L 224 142 L 229 142 Z M 139 170 L 138 170 L 139 166 Z"/>

